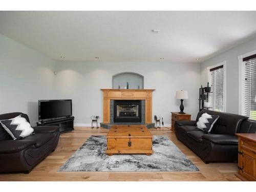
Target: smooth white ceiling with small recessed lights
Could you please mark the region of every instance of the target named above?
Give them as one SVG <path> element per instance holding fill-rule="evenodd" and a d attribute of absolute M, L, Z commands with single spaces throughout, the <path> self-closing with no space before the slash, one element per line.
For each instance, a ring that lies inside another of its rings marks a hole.
<path fill-rule="evenodd" d="M 0 34 L 57 60 L 202 62 L 255 24 L 256 11 L 0 11 Z"/>

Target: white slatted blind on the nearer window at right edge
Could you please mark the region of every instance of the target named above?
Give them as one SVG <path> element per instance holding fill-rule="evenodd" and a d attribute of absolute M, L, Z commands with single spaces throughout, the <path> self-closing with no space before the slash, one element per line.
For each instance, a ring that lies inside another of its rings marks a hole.
<path fill-rule="evenodd" d="M 243 115 L 256 120 L 256 54 L 243 58 Z"/>

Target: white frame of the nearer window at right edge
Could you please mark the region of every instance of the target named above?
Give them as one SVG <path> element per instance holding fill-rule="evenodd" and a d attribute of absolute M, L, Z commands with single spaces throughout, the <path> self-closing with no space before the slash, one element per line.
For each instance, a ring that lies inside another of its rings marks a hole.
<path fill-rule="evenodd" d="M 243 64 L 245 61 L 243 61 L 243 58 L 251 56 L 256 54 L 256 50 L 244 53 L 242 55 L 238 56 L 238 65 L 239 65 L 239 104 L 238 104 L 238 110 L 239 110 L 239 115 L 244 115 L 244 88 L 242 87 L 243 84 L 243 73 L 244 73 L 244 67 Z"/>

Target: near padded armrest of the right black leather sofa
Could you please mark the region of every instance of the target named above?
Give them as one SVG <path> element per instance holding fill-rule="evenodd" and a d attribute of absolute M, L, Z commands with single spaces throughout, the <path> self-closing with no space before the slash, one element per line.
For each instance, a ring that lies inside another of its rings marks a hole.
<path fill-rule="evenodd" d="M 220 145 L 237 145 L 238 144 L 238 137 L 236 135 L 208 134 L 208 135 L 203 135 L 202 138 L 212 143 L 220 144 Z"/>

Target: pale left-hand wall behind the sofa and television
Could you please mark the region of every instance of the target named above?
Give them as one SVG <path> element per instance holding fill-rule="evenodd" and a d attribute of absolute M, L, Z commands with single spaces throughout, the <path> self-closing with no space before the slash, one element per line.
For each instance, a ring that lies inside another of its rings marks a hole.
<path fill-rule="evenodd" d="M 38 120 L 38 99 L 54 98 L 54 61 L 0 35 L 0 114 L 23 112 Z"/>

